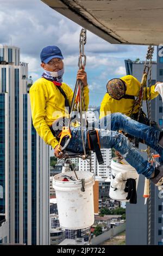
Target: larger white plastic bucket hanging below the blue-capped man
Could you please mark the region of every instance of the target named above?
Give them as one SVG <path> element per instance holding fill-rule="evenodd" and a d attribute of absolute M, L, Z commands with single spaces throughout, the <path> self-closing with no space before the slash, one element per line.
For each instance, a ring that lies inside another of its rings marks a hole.
<path fill-rule="evenodd" d="M 83 229 L 94 223 L 93 184 L 95 180 L 90 172 L 60 173 L 53 177 L 53 188 L 56 192 L 60 226 L 65 229 Z M 72 176 L 75 181 L 62 181 L 62 175 Z M 85 192 L 81 190 L 85 179 Z"/>

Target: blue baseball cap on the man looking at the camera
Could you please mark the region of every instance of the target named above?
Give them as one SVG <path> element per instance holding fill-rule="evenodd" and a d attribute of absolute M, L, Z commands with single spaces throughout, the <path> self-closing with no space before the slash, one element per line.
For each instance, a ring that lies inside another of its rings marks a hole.
<path fill-rule="evenodd" d="M 47 46 L 42 49 L 40 53 L 41 62 L 48 63 L 53 58 L 64 59 L 62 56 L 60 48 L 55 45 Z"/>

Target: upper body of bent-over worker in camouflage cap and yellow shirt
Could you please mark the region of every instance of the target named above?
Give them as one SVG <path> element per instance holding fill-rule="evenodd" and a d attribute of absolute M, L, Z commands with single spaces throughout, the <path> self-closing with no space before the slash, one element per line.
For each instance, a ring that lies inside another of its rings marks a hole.
<path fill-rule="evenodd" d="M 137 120 L 140 105 L 139 102 L 137 102 L 135 106 L 134 104 L 136 97 L 139 96 L 140 87 L 140 82 L 131 75 L 111 79 L 106 85 L 107 93 L 104 95 L 101 103 L 99 118 L 107 115 L 107 112 L 121 112 L 122 114 L 126 114 L 128 117 Z M 151 99 L 154 99 L 159 95 L 158 92 L 154 91 L 154 85 L 151 88 L 148 87 L 147 92 L 146 89 L 143 91 L 143 100 L 146 100 L 146 94 L 147 100 L 149 100 L 149 90 L 151 91 Z M 141 119 L 144 119 L 145 124 L 148 124 L 148 120 L 143 117 L 143 115 L 145 116 L 145 113 L 143 113 L 141 109 L 140 123 L 144 123 L 143 120 L 141 121 Z"/>

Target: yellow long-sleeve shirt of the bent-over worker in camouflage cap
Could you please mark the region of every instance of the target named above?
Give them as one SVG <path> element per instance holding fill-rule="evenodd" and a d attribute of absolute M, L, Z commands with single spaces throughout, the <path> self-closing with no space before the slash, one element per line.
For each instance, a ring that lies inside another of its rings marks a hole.
<path fill-rule="evenodd" d="M 131 75 L 123 76 L 121 79 L 126 82 L 127 90 L 126 94 L 137 96 L 140 92 L 140 82 Z M 149 99 L 149 89 L 147 88 L 147 99 Z M 151 99 L 154 99 L 158 96 L 157 92 L 154 92 L 154 86 L 151 87 Z M 143 100 L 146 100 L 146 92 L 143 93 Z M 101 108 L 100 108 L 100 116 L 99 118 L 104 117 L 105 115 L 110 113 L 121 112 L 122 114 L 130 115 L 131 110 L 134 105 L 134 100 L 131 99 L 121 99 L 115 100 L 106 93 L 103 97 Z M 137 113 L 139 111 L 139 105 L 135 106 L 133 113 Z M 107 113 L 108 112 L 108 113 Z"/>

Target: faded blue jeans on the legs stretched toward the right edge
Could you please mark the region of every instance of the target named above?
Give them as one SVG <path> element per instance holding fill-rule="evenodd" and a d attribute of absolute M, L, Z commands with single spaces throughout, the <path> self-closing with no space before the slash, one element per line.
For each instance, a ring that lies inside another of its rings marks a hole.
<path fill-rule="evenodd" d="M 101 148 L 115 148 L 137 170 L 137 173 L 145 175 L 148 179 L 151 178 L 154 167 L 143 159 L 140 153 L 128 142 L 126 136 L 118 133 L 117 130 L 122 130 L 143 139 L 147 145 L 158 151 L 161 159 L 163 159 L 162 148 L 158 146 L 160 131 L 145 124 L 140 124 L 121 113 L 107 115 L 92 125 L 98 129 Z M 72 127 L 71 135 L 72 139 L 67 149 L 82 153 L 83 145 L 80 127 Z M 86 148 L 88 148 L 86 129 L 84 130 L 84 140 Z"/>

